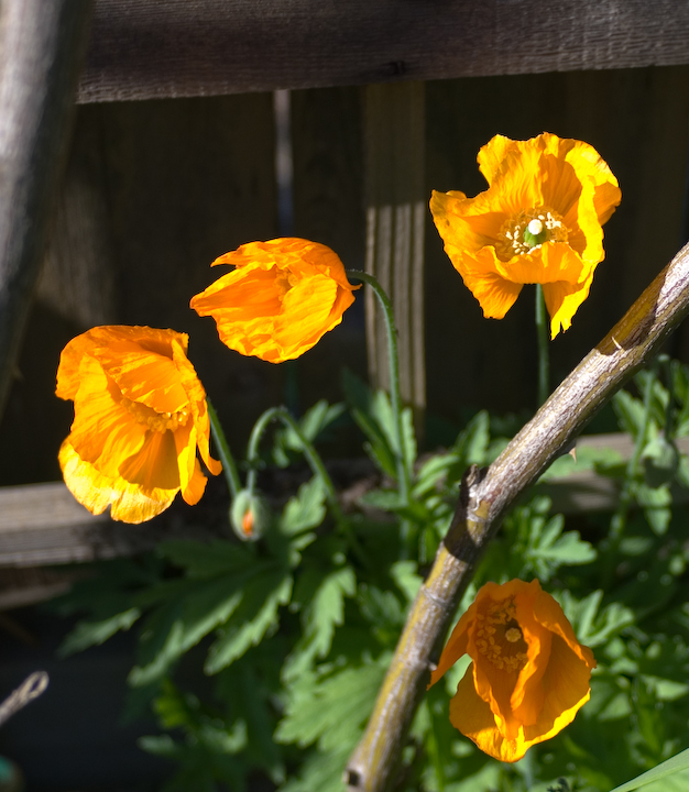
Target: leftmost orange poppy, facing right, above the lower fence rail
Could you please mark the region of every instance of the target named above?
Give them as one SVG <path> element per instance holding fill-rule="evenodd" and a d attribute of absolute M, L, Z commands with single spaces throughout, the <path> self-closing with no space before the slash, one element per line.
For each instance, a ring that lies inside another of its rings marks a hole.
<path fill-rule="evenodd" d="M 74 400 L 59 449 L 65 483 L 92 514 L 143 522 L 175 495 L 199 501 L 210 457 L 206 393 L 186 356 L 188 337 L 147 327 L 97 327 L 63 350 L 56 394 Z"/>

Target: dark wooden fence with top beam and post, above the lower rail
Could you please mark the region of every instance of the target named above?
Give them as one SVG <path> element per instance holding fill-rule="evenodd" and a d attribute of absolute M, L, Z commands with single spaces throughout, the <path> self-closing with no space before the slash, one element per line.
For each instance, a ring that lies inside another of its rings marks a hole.
<path fill-rule="evenodd" d="M 238 447 L 287 381 L 303 408 L 341 398 L 342 365 L 383 382 L 380 331 L 367 306 L 367 350 L 361 299 L 287 366 L 228 351 L 189 310 L 217 255 L 285 232 L 387 278 L 405 393 L 426 410 L 430 443 L 434 427 L 478 407 L 529 408 L 533 299 L 503 321 L 482 318 L 430 222 L 430 190 L 483 189 L 475 155 L 497 132 L 578 138 L 610 164 L 623 201 L 591 296 L 553 344 L 559 380 L 686 241 L 688 64 L 685 0 L 99 0 L 0 424 L 0 485 L 59 479 L 72 406 L 53 395 L 55 370 L 64 344 L 94 324 L 189 332 Z M 292 229 L 278 213 L 276 89 L 291 89 Z M 680 330 L 672 352 L 689 360 L 688 344 Z"/>

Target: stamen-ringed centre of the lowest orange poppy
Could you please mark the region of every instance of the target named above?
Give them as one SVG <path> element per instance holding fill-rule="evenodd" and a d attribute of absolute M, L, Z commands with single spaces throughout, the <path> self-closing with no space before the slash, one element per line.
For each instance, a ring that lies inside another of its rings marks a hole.
<path fill-rule="evenodd" d="M 520 671 L 527 660 L 527 646 L 516 620 L 514 600 L 491 602 L 477 614 L 477 648 L 501 671 Z"/>

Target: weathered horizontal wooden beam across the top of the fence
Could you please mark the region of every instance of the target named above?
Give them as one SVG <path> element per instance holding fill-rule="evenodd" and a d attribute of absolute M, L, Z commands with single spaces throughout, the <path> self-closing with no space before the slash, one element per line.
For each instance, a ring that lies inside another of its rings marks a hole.
<path fill-rule="evenodd" d="M 687 63 L 687 0 L 97 0 L 78 100 Z"/>

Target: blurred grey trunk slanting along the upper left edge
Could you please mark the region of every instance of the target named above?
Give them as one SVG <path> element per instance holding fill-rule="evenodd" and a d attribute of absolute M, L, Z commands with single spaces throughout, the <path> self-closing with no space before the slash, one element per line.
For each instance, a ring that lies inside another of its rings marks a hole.
<path fill-rule="evenodd" d="M 91 7 L 0 3 L 0 415 L 41 268 Z"/>

